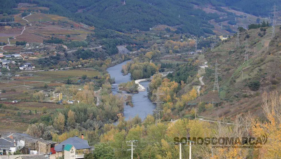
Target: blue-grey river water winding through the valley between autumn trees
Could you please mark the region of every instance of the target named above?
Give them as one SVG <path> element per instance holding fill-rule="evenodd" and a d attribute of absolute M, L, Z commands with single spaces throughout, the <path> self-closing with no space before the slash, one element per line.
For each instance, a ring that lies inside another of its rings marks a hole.
<path fill-rule="evenodd" d="M 130 61 L 130 60 L 128 60 Z M 113 94 L 118 94 L 118 85 L 120 83 L 131 81 L 131 74 L 123 76 L 121 73 L 122 65 L 125 65 L 128 61 L 122 62 L 121 64 L 115 65 L 107 69 L 107 72 L 110 74 L 111 78 L 115 78 L 115 84 L 112 85 Z M 149 81 L 140 82 L 145 88 L 148 87 Z M 126 93 L 123 91 L 123 93 Z M 147 92 L 142 91 L 139 93 L 132 94 L 132 103 L 134 107 L 130 107 L 130 105 L 124 105 L 124 117 L 125 120 L 135 117 L 139 115 L 141 120 L 144 120 L 148 114 L 153 114 L 153 109 L 155 109 L 155 105 L 151 103 L 151 101 L 147 98 Z"/>

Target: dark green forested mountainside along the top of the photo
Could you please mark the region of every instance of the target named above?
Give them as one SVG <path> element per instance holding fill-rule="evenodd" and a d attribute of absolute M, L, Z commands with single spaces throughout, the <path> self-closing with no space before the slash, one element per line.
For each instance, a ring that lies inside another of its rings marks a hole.
<path fill-rule="evenodd" d="M 235 24 L 236 15 L 225 11 L 221 7 L 253 14 L 255 16 L 268 17 L 272 11 L 272 6 L 281 5 L 278 1 L 224 1 L 224 0 L 4 0 L 0 5 L 0 13 L 12 13 L 11 8 L 16 7 L 16 3 L 33 3 L 38 6 L 48 7 L 49 10 L 42 10 L 43 13 L 50 13 L 69 17 L 87 25 L 110 28 L 120 32 L 132 30 L 149 30 L 155 25 L 164 24 L 176 26 L 177 33 L 190 33 L 195 35 L 214 34 L 213 25 L 210 20 L 215 19 L 217 23 L 222 15 L 218 13 L 206 13 L 201 9 L 194 8 L 194 5 L 201 7 L 212 6 L 223 16 L 227 16 L 223 21 L 231 20 L 230 25 Z"/>

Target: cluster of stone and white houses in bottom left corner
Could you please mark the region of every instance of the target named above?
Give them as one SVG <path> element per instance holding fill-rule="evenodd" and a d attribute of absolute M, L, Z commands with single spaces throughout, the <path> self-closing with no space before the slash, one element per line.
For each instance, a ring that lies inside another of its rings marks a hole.
<path fill-rule="evenodd" d="M 54 142 L 16 132 L 0 132 L 0 159 L 84 158 L 94 150 L 84 135 Z M 10 156 L 12 155 L 12 156 Z"/>

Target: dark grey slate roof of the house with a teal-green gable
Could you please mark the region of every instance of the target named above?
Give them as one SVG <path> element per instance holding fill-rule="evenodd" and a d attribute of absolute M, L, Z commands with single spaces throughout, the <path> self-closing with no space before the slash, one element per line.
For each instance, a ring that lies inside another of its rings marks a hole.
<path fill-rule="evenodd" d="M 55 146 L 55 151 L 57 151 L 57 152 L 63 151 L 63 145 L 66 145 L 66 144 L 73 145 L 76 148 L 76 150 L 91 148 L 89 146 L 87 140 L 74 136 L 74 137 L 64 140 L 63 142 L 61 142 L 57 146 Z"/>

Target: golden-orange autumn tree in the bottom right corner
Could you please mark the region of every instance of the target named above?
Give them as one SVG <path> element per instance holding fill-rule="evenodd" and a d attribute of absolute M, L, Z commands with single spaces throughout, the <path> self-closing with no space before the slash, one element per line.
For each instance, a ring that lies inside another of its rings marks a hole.
<path fill-rule="evenodd" d="M 262 108 L 267 121 L 251 120 L 253 136 L 268 138 L 262 148 L 258 149 L 258 157 L 281 158 L 281 95 L 278 92 L 272 92 L 270 95 L 263 93 Z"/>

